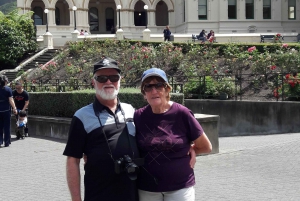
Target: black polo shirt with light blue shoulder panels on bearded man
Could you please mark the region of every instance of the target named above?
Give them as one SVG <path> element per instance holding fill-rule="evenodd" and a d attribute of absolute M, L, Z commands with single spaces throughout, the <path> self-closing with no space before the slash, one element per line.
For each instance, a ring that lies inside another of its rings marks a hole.
<path fill-rule="evenodd" d="M 114 114 L 97 100 L 94 107 L 87 105 L 74 114 L 63 153 L 74 158 L 82 158 L 83 153 L 87 155 L 84 200 L 138 201 L 136 181 L 130 180 L 126 173 L 117 174 L 114 170 L 116 159 L 124 155 L 138 158 L 134 108 L 118 103 Z"/>

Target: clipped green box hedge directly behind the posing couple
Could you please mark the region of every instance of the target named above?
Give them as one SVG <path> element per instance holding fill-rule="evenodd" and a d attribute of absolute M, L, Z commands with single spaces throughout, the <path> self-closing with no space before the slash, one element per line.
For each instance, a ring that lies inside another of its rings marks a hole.
<path fill-rule="evenodd" d="M 94 102 L 95 90 L 30 92 L 29 95 L 30 115 L 72 117 L 78 109 Z M 147 105 L 138 89 L 122 89 L 118 97 L 121 102 L 130 103 L 134 108 Z M 183 94 L 171 94 L 171 100 L 183 104 Z"/>

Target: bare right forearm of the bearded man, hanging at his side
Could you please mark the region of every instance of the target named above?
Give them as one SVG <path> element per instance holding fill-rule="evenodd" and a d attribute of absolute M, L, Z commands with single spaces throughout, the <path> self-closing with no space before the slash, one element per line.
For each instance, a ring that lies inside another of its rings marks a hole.
<path fill-rule="evenodd" d="M 81 201 L 79 164 L 79 158 L 67 157 L 67 182 L 72 201 Z"/>

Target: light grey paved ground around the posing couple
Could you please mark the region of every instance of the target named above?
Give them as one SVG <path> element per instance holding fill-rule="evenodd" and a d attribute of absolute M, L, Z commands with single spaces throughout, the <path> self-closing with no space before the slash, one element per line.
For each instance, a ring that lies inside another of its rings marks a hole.
<path fill-rule="evenodd" d="M 0 148 L 0 200 L 70 200 L 65 141 L 12 138 L 10 147 Z M 197 201 L 300 200 L 300 133 L 224 137 L 219 143 L 219 154 L 197 157 Z"/>

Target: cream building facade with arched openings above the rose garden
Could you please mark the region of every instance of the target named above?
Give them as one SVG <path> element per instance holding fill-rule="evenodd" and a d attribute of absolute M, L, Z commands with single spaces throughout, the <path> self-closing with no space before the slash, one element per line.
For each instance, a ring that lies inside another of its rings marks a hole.
<path fill-rule="evenodd" d="M 34 12 L 37 35 L 48 25 L 54 39 L 71 37 L 75 27 L 90 34 L 121 28 L 126 38 L 136 39 L 146 26 L 151 33 L 162 33 L 166 25 L 172 33 L 188 34 L 202 29 L 300 32 L 300 0 L 18 0 L 17 6 L 21 13 Z"/>

